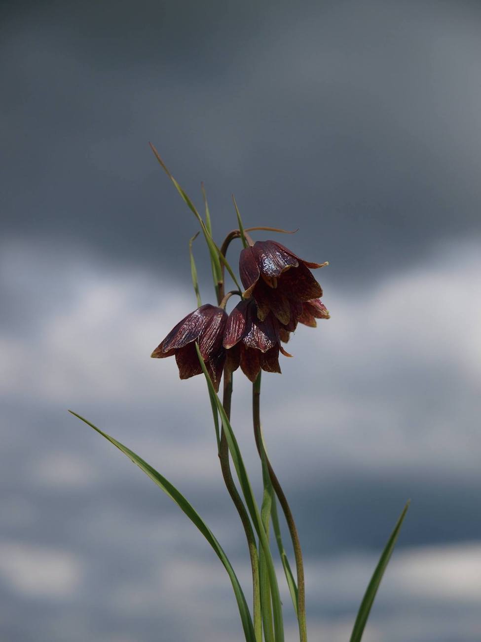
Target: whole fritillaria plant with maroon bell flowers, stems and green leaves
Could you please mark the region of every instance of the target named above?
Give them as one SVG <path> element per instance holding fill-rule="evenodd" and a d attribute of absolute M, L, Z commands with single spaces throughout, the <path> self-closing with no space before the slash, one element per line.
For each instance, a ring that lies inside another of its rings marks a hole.
<path fill-rule="evenodd" d="M 316 327 L 318 319 L 329 318 L 328 310 L 321 302 L 323 291 L 312 274 L 312 270 L 323 268 L 328 263 L 305 261 L 278 241 L 254 242 L 249 236 L 249 232 L 292 232 L 269 227 L 244 229 L 235 200 L 233 200 L 233 204 L 237 214 L 238 229 L 229 232 L 220 247 L 217 246 L 212 238 L 210 213 L 203 187 L 205 214 L 201 216 L 189 196 L 171 175 L 155 148 L 153 146 L 151 148 L 156 159 L 199 222 L 210 253 L 215 291 L 215 304 L 202 304 L 196 265 L 192 254 L 194 237 L 190 239 L 189 251 L 192 283 L 197 295 L 198 307 L 174 325 L 151 356 L 157 359 L 174 357 L 180 379 L 201 375 L 207 381 L 221 474 L 239 513 L 249 551 L 252 575 L 251 607 L 249 607 L 237 575 L 221 544 L 215 539 L 214 534 L 189 501 L 164 476 L 126 446 L 96 428 L 87 419 L 83 419 L 77 413 L 70 412 L 130 457 L 177 503 L 204 535 L 230 577 L 247 642 L 262 642 L 262 640 L 283 642 L 284 640 L 283 605 L 280 600 L 279 578 L 274 567 L 272 548 L 272 542 L 275 540 L 277 555 L 282 562 L 285 581 L 291 594 L 292 608 L 298 620 L 299 639 L 300 642 L 306 642 L 305 583 L 300 537 L 287 496 L 266 454 L 260 424 L 260 381 L 262 370 L 280 374 L 280 355 L 291 357 L 282 344 L 289 342 L 291 333 L 296 330 L 298 324 Z M 228 247 L 235 239 L 239 239 L 243 246 L 239 256 L 239 275 L 242 286 L 237 281 L 235 272 L 226 259 Z M 237 288 L 227 293 L 224 291 L 225 270 L 230 273 Z M 239 297 L 239 301 L 228 314 L 226 306 L 231 297 Z M 252 382 L 253 437 L 260 459 L 264 486 L 260 507 L 255 499 L 246 466 L 230 423 L 232 376 L 239 367 Z M 221 382 L 223 383 L 222 400 L 218 395 Z M 234 481 L 231 460 L 241 492 L 237 490 Z M 284 548 L 277 503 L 282 509 L 289 529 L 294 551 L 295 574 L 291 569 Z M 359 642 L 362 638 L 371 605 L 387 562 L 391 557 L 407 507 L 408 505 L 401 513 L 367 586 L 354 623 L 351 642 Z M 271 526 L 274 537 L 271 537 Z"/>

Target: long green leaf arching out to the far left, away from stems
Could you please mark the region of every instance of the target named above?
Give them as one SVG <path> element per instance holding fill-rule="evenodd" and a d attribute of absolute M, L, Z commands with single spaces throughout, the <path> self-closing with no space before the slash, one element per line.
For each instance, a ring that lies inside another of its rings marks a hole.
<path fill-rule="evenodd" d="M 239 607 L 239 613 L 241 615 L 242 628 L 244 629 L 246 642 L 255 642 L 254 628 L 251 620 L 251 615 L 249 613 L 249 607 L 247 605 L 246 598 L 244 597 L 244 593 L 242 593 L 239 580 L 237 580 L 237 576 L 235 575 L 232 565 L 227 555 L 224 553 L 221 544 L 219 544 L 217 539 L 215 539 L 214 534 L 212 534 L 212 531 L 199 516 L 198 512 L 196 512 L 192 505 L 190 505 L 189 501 L 185 499 L 185 497 L 176 489 L 176 487 L 174 487 L 168 480 L 165 479 L 165 477 L 163 477 L 153 467 L 151 467 L 151 465 L 147 464 L 147 462 L 144 462 L 144 460 L 140 458 L 139 455 L 133 453 L 133 451 L 131 451 L 128 447 L 121 444 L 121 442 L 118 442 L 116 439 L 114 439 L 114 437 L 110 437 L 110 435 L 107 435 L 107 433 L 101 431 L 101 429 L 94 426 L 94 424 L 91 424 L 90 421 L 87 421 L 87 419 L 84 419 L 76 412 L 69 410 L 69 413 L 74 415 L 74 417 L 78 417 L 78 419 L 87 424 L 87 426 L 90 426 L 90 428 L 93 428 L 95 431 L 97 431 L 99 435 L 102 435 L 102 437 L 105 437 L 106 440 L 110 441 L 111 444 L 114 444 L 114 446 L 121 450 L 124 455 L 128 456 L 128 458 L 134 464 L 137 464 L 140 470 L 143 471 L 148 477 L 150 477 L 151 480 L 155 482 L 160 489 L 164 490 L 165 494 L 173 499 L 178 507 L 187 515 L 187 517 L 189 517 L 190 521 L 192 521 L 192 523 L 197 526 L 199 531 L 209 542 L 210 546 L 212 546 L 212 548 L 214 549 L 217 557 L 219 557 L 219 559 L 223 563 L 224 568 L 226 569 L 230 577 L 230 581 L 232 582 L 232 587 L 235 593 L 235 599 L 237 600 L 237 605 Z"/>

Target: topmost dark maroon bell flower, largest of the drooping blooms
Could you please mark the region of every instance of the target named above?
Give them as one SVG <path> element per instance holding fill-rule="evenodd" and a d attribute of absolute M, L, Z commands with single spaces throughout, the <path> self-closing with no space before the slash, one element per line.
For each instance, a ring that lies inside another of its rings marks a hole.
<path fill-rule="evenodd" d="M 303 314 L 303 304 L 319 299 L 323 293 L 310 270 L 325 265 L 303 261 L 276 241 L 257 241 L 244 248 L 239 259 L 239 272 L 246 288 L 244 297 L 255 299 L 259 320 L 265 320 L 272 312 L 292 332 Z"/>

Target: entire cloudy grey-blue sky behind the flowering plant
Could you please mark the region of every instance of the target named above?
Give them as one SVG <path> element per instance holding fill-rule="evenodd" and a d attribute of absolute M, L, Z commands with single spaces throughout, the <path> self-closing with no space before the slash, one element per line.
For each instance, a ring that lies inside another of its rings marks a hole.
<path fill-rule="evenodd" d="M 480 30 L 460 0 L 1 3 L 2 640 L 242 639 L 207 542 L 66 412 L 178 485 L 249 594 L 205 382 L 149 359 L 196 306 L 197 227 L 148 141 L 199 205 L 205 182 L 219 243 L 234 193 L 246 225 L 330 261 L 332 318 L 263 378 L 310 641 L 349 639 L 407 498 L 364 640 L 481 638 Z"/>

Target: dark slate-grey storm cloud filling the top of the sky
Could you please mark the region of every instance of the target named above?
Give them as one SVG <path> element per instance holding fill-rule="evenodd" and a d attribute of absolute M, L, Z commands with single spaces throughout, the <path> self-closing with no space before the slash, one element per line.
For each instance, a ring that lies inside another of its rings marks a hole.
<path fill-rule="evenodd" d="M 8 9 L 10 232 L 173 269 L 196 225 L 149 139 L 191 195 L 205 180 L 219 234 L 233 191 L 249 224 L 301 227 L 291 245 L 335 279 L 479 232 L 475 4 Z"/>

